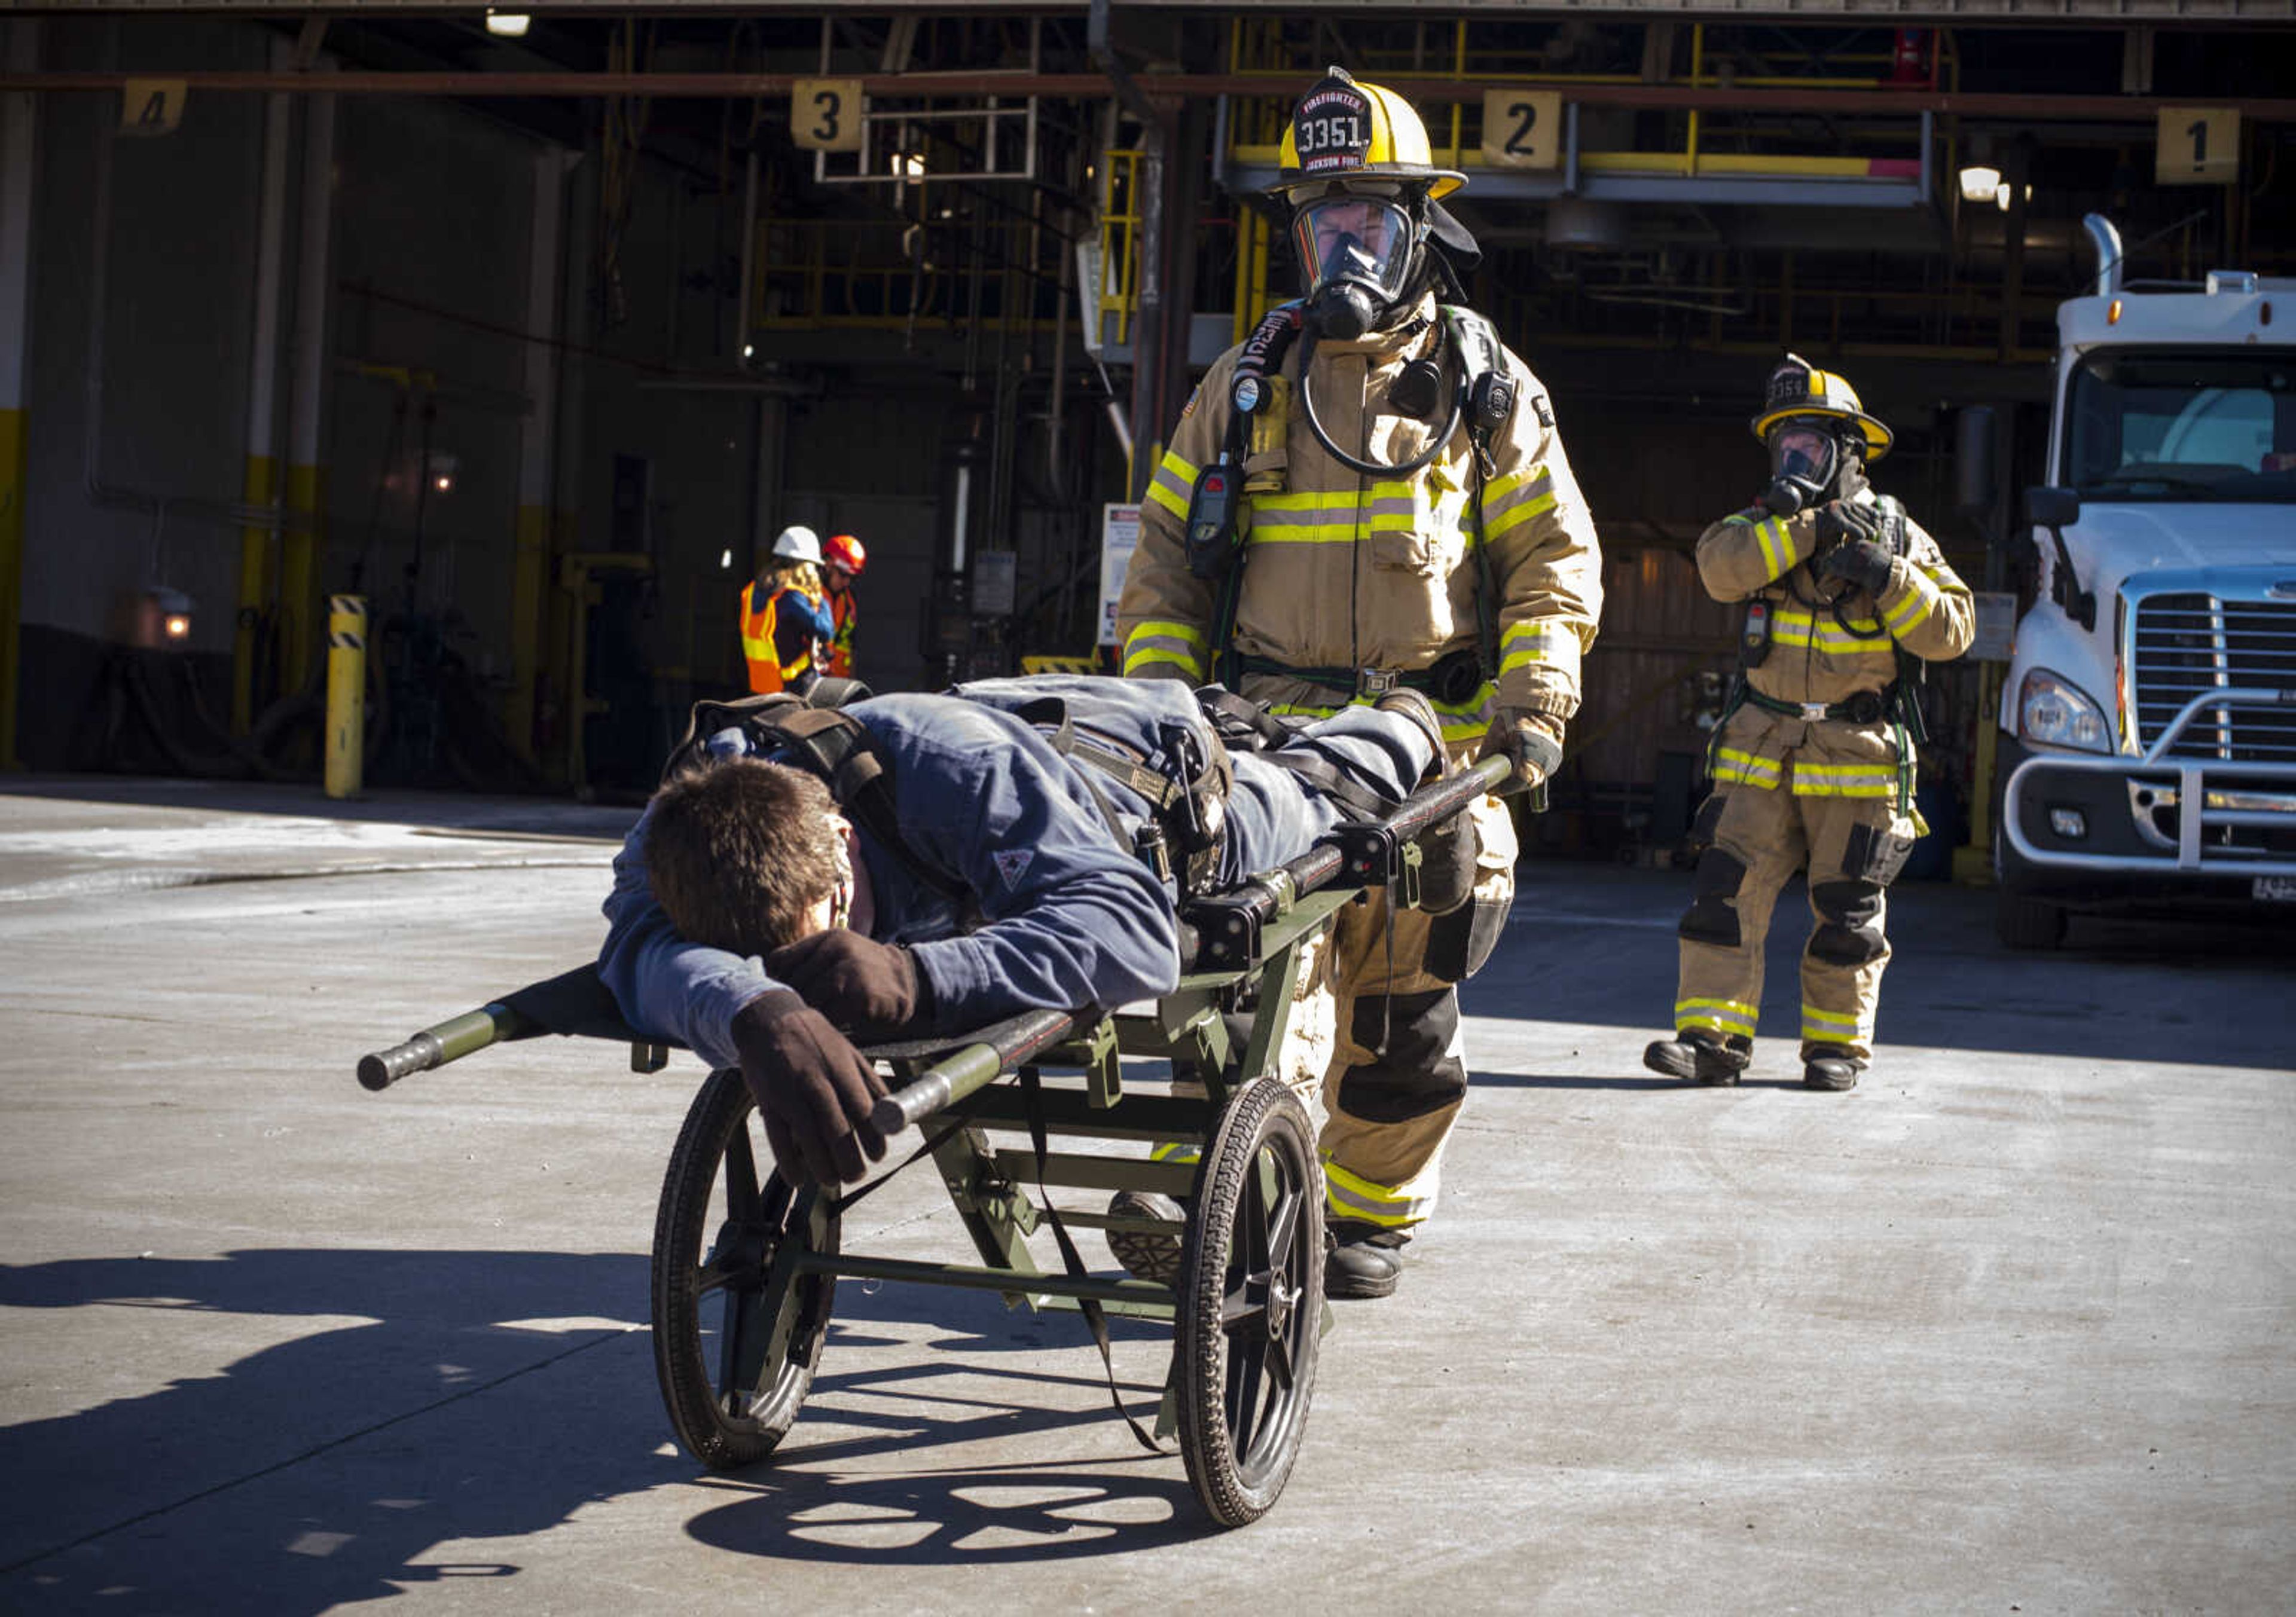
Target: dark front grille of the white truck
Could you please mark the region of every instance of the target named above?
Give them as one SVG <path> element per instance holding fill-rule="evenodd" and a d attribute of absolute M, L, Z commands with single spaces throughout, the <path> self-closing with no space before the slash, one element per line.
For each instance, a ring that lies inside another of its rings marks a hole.
<path fill-rule="evenodd" d="M 2144 595 L 2131 634 L 2138 746 L 2211 689 L 2296 689 L 2296 602 Z M 2172 758 L 2296 763 L 2296 705 L 2200 710 Z"/>

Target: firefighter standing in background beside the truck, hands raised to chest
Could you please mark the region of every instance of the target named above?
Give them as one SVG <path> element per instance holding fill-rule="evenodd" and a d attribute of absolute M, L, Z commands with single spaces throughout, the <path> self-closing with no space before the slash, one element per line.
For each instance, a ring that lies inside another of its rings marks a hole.
<path fill-rule="evenodd" d="M 1706 852 L 1678 928 L 1674 1038 L 1642 1059 L 1699 1084 L 1738 1082 L 1754 1057 L 1770 905 L 1807 868 L 1802 1082 L 1851 1089 L 1874 1059 L 1887 889 L 1929 829 L 1913 808 L 1919 666 L 1968 650 L 1970 590 L 1903 508 L 1867 487 L 1890 430 L 1848 381 L 1789 354 L 1754 436 L 1770 450 L 1768 492 L 1699 537 L 1706 590 L 1747 616 L 1694 827 Z"/>

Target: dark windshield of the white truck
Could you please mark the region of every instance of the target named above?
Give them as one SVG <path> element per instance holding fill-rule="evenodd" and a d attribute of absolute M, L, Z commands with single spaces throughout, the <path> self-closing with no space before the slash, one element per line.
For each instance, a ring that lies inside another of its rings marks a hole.
<path fill-rule="evenodd" d="M 2296 351 L 2082 356 L 2066 393 L 2064 482 L 2101 501 L 2296 505 Z"/>

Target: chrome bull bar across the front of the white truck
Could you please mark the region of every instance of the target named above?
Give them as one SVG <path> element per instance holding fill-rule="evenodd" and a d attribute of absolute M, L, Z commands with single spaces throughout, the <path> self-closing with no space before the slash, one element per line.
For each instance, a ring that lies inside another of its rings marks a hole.
<path fill-rule="evenodd" d="M 2002 792 L 2002 836 L 2020 859 L 2046 868 L 2128 871 L 2156 875 L 2296 875 L 2296 854 L 2273 854 L 2250 848 L 2206 845 L 2220 829 L 2296 831 L 2296 760 L 2234 763 L 2229 758 L 2172 758 L 2170 751 L 2190 724 L 2220 707 L 2296 707 L 2296 689 L 2225 687 L 2202 691 L 2170 719 L 2161 737 L 2142 753 L 2027 758 L 2009 776 Z M 2062 848 L 2039 848 L 2025 836 L 2025 795 L 2041 790 L 2048 774 L 2096 774 L 2128 783 L 2128 808 L 2138 836 L 2158 854 L 2080 854 Z M 2213 779 L 2211 779 L 2213 776 Z M 2289 788 L 2289 790 L 2275 790 Z M 2151 808 L 2177 811 L 2174 843 L 2149 818 Z"/>

